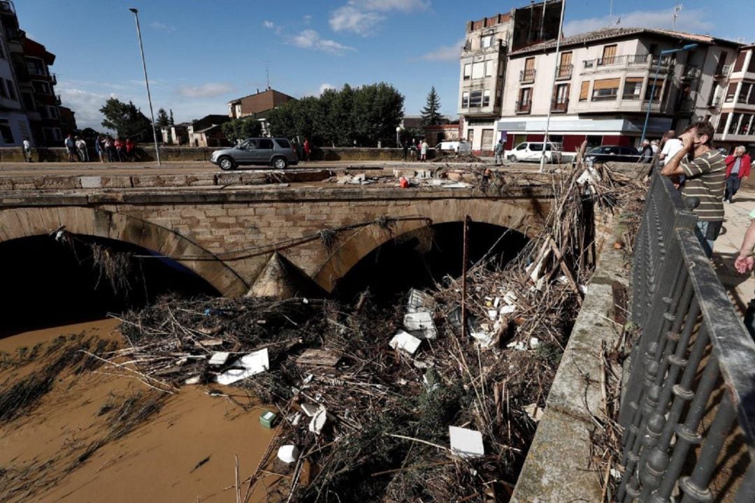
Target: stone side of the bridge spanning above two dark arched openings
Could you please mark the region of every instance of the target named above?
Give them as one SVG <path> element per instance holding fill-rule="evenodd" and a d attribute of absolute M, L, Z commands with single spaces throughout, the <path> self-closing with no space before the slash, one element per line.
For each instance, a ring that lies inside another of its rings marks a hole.
<path fill-rule="evenodd" d="M 0 242 L 64 225 L 75 235 L 175 259 L 224 296 L 270 293 L 260 282 L 269 283 L 281 263 L 331 292 L 353 265 L 399 235 L 470 216 L 530 236 L 551 201 L 549 187 L 532 177 L 504 195 L 430 184 L 400 189 L 395 179 L 373 186 L 133 186 L 2 191 Z"/>

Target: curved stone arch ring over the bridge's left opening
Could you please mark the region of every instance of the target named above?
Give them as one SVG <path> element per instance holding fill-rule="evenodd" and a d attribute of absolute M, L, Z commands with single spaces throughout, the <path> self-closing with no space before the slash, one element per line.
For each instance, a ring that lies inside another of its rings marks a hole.
<path fill-rule="evenodd" d="M 246 282 L 189 238 L 134 216 L 91 207 L 23 207 L 0 211 L 0 243 L 46 235 L 61 225 L 73 234 L 124 241 L 165 256 L 206 256 L 180 263 L 223 296 L 242 296 Z"/>

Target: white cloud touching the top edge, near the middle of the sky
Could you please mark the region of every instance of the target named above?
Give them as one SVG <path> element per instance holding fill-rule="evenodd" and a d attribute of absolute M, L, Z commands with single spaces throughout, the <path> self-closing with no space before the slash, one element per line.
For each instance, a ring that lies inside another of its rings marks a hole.
<path fill-rule="evenodd" d="M 334 32 L 354 32 L 367 36 L 386 19 L 381 13 L 424 11 L 429 6 L 428 0 L 349 0 L 346 5 L 331 12 L 328 23 Z"/>

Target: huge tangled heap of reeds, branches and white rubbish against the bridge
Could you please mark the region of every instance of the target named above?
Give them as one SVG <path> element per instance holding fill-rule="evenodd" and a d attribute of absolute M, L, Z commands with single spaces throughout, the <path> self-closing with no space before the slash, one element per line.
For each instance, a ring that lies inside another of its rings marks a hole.
<path fill-rule="evenodd" d="M 277 436 L 236 487 L 247 496 L 272 469 L 276 501 L 507 501 L 587 291 L 593 212 L 641 191 L 580 174 L 553 177 L 544 230 L 517 259 L 482 259 L 466 285 L 389 307 L 368 293 L 163 298 L 122 318 L 128 347 L 110 363 L 167 393 L 236 385 L 269 406 Z"/>

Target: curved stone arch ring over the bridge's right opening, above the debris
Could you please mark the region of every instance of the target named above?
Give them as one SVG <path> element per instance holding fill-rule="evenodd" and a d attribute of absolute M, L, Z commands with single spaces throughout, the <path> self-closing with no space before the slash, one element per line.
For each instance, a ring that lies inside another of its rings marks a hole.
<path fill-rule="evenodd" d="M 393 222 L 386 230 L 378 225 L 368 225 L 343 237 L 331 253 L 316 268 L 312 277 L 325 291 L 331 293 L 337 282 L 354 265 L 396 236 L 416 231 L 425 225 L 448 222 L 464 222 L 466 216 L 474 222 L 510 228 L 527 238 L 542 227 L 542 221 L 550 203 L 543 204 L 532 198 L 516 199 L 433 199 L 412 204 L 391 214 L 391 217 L 424 217 Z"/>

